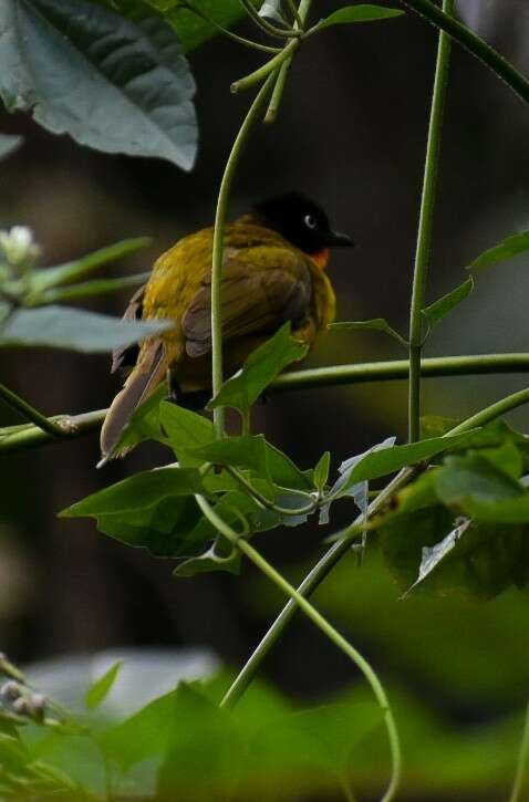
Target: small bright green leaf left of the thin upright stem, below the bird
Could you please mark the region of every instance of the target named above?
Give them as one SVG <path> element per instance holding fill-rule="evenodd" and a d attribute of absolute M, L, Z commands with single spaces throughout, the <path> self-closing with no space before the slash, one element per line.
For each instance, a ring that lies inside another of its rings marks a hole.
<path fill-rule="evenodd" d="M 204 461 L 194 457 L 190 450 L 215 440 L 214 425 L 208 418 L 177 404 L 163 402 L 159 407 L 159 423 L 180 465 L 193 466 Z"/>

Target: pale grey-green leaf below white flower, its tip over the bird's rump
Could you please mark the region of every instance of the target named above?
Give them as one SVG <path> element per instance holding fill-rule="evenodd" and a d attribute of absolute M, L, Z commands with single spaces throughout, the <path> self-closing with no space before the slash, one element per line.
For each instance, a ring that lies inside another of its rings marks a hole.
<path fill-rule="evenodd" d="M 73 309 L 19 309 L 0 327 L 0 347 L 39 346 L 104 353 L 170 329 L 169 321 L 132 322 Z"/>

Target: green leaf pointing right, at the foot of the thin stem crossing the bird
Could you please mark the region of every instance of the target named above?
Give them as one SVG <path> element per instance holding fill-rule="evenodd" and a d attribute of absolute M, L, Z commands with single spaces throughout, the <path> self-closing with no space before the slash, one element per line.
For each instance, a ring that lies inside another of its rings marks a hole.
<path fill-rule="evenodd" d="M 189 450 L 191 456 L 214 465 L 248 468 L 258 477 L 297 490 L 312 490 L 312 483 L 297 466 L 262 435 L 226 437 Z"/>

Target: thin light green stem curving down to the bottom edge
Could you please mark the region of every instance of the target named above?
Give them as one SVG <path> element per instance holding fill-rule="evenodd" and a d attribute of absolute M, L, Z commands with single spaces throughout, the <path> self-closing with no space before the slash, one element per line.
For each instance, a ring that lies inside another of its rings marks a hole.
<path fill-rule="evenodd" d="M 283 593 L 290 596 L 298 607 L 312 621 L 313 624 L 324 634 L 326 637 L 341 650 L 343 652 L 366 678 L 370 684 L 373 694 L 381 707 L 384 716 L 384 723 L 387 730 L 387 737 L 390 741 L 390 749 L 392 756 L 392 775 L 390 785 L 382 798 L 382 802 L 391 802 L 395 799 L 395 794 L 401 781 L 402 773 L 402 759 L 401 759 L 401 744 L 398 740 L 398 733 L 395 726 L 395 719 L 393 711 L 390 706 L 384 687 L 378 679 L 378 676 L 367 663 L 367 660 L 335 629 L 315 607 L 307 601 L 307 598 L 299 593 L 287 580 L 264 560 L 264 558 L 245 539 L 240 538 L 231 527 L 229 527 L 211 508 L 209 502 L 203 496 L 196 496 L 198 506 L 206 515 L 206 518 L 212 523 L 212 525 L 225 535 L 239 551 L 251 560 L 251 562 L 268 576 Z"/>

